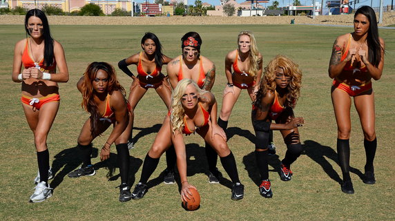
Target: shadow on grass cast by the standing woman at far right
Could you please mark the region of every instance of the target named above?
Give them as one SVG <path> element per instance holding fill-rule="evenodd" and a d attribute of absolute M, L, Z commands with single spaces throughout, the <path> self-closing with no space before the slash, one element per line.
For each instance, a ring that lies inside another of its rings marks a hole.
<path fill-rule="evenodd" d="M 331 164 L 325 159 L 325 157 L 333 160 L 338 164 L 338 154 L 334 151 L 333 148 L 330 146 L 322 146 L 318 142 L 315 142 L 313 140 L 306 140 L 304 146 L 304 153 L 308 157 L 311 158 L 311 160 L 314 160 L 317 164 L 320 164 L 322 169 L 331 177 L 332 180 L 338 182 L 339 184 L 343 183 L 343 180 L 340 178 L 338 173 L 334 170 Z M 363 173 L 359 171 L 358 169 L 355 169 L 354 167 L 350 166 L 350 172 L 355 173 L 360 177 L 360 180 L 363 180 Z"/>

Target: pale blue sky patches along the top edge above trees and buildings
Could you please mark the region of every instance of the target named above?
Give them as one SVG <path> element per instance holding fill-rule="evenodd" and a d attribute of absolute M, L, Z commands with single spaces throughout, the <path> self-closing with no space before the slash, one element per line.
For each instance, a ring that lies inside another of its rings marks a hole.
<path fill-rule="evenodd" d="M 145 0 L 137 0 L 137 2 L 143 2 L 143 1 L 145 1 Z M 151 3 L 154 1 L 154 0 L 149 0 L 149 1 L 151 1 Z M 201 0 L 202 2 L 206 2 L 206 3 L 209 3 L 209 4 L 211 4 L 211 5 L 214 5 L 214 6 L 219 6 L 220 5 L 220 0 Z M 244 1 L 246 1 L 246 0 L 236 0 L 238 3 L 242 3 L 242 2 L 244 2 Z M 273 1 L 276 1 L 276 0 L 269 0 L 269 3 L 262 3 L 262 5 L 263 6 L 265 6 L 265 4 L 266 4 L 266 6 L 271 6 L 271 3 L 273 2 Z M 293 2 L 293 0 L 277 0 L 278 1 L 278 3 L 280 3 L 280 7 L 282 7 L 282 6 L 287 6 L 287 4 L 289 4 L 289 3 L 292 3 Z M 302 5 L 304 5 L 304 6 L 311 6 L 311 4 L 312 4 L 312 0 L 299 0 L 300 1 L 300 3 L 302 3 Z M 325 2 L 326 2 L 327 0 L 324 0 L 324 6 L 325 6 Z M 350 1 L 354 1 L 354 0 L 350 0 Z M 358 1 L 358 0 L 357 0 Z M 395 0 L 394 0 L 395 1 Z M 316 0 L 316 2 L 319 2 L 319 3 L 321 3 L 322 2 L 322 0 Z M 391 3 L 392 3 L 392 0 L 383 0 L 383 6 L 387 6 L 387 5 L 391 5 Z M 189 5 L 194 5 L 195 4 L 195 0 L 188 0 L 188 4 Z M 371 5 L 372 4 L 372 5 Z M 356 3 L 356 7 L 355 8 L 358 8 L 359 6 L 372 6 L 372 7 L 379 7 L 380 5 L 380 0 L 359 0 L 359 3 Z M 394 3 L 394 5 L 395 5 L 395 3 Z M 353 3 L 353 5 L 352 6 L 354 6 L 354 3 Z"/>

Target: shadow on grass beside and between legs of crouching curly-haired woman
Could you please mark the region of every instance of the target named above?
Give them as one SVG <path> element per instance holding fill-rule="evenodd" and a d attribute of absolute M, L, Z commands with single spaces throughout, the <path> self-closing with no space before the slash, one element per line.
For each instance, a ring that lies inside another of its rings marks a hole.
<path fill-rule="evenodd" d="M 260 180 L 260 173 L 258 170 L 258 166 L 256 164 L 255 151 L 243 157 L 243 164 L 244 164 L 244 169 L 248 172 L 250 179 L 257 186 L 259 186 L 262 180 Z M 273 169 L 269 171 L 277 172 L 278 175 L 280 176 L 280 159 L 278 155 L 269 155 L 269 165 L 273 167 Z"/>

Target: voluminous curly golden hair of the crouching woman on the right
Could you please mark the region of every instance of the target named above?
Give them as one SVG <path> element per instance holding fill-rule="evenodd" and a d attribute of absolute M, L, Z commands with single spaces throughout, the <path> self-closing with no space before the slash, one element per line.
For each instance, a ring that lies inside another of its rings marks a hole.
<path fill-rule="evenodd" d="M 291 77 L 289 85 L 287 86 L 287 102 L 285 106 L 295 108 L 296 101 L 300 97 L 300 87 L 302 86 L 302 71 L 299 69 L 298 64 L 293 62 L 285 55 L 277 55 L 269 64 L 264 68 L 263 79 L 260 83 L 260 88 L 256 93 L 256 100 L 253 105 L 262 108 L 260 101 L 268 93 L 268 91 L 276 90 L 276 70 L 282 68 L 284 75 Z"/>

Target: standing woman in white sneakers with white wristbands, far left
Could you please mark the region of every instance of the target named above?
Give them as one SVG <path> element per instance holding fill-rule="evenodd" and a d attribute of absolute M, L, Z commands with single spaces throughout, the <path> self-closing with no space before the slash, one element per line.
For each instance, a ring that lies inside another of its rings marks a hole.
<path fill-rule="evenodd" d="M 28 37 L 15 45 L 12 81 L 22 83 L 22 107 L 35 137 L 39 173 L 30 202 L 42 202 L 52 195 L 48 178 L 53 175 L 46 140 L 59 110 L 58 82 L 68 81 L 68 68 L 61 44 L 50 35 L 44 12 L 29 10 L 25 30 Z"/>

